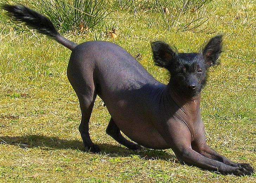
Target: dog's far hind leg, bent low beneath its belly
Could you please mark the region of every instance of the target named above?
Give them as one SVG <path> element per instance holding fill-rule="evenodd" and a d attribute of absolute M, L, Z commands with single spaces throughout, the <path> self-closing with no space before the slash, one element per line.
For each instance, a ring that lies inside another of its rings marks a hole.
<path fill-rule="evenodd" d="M 128 141 L 127 139 L 125 139 L 123 137 L 123 135 L 120 132 L 119 127 L 115 124 L 115 121 L 113 120 L 113 118 L 110 118 L 107 130 L 106 130 L 107 134 L 109 134 L 113 139 L 115 139 L 117 142 L 119 142 L 120 144 L 126 146 L 128 149 L 133 149 L 133 150 L 137 150 L 137 149 L 141 149 L 141 146 Z"/>

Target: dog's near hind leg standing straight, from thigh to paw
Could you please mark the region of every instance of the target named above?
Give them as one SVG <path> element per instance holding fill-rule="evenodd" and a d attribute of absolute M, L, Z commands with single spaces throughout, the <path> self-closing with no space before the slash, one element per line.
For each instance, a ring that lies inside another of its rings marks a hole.
<path fill-rule="evenodd" d="M 67 75 L 70 84 L 76 92 L 81 108 L 82 119 L 78 129 L 84 143 L 85 151 L 98 153 L 100 152 L 100 148 L 92 143 L 89 135 L 89 120 L 97 96 L 96 84 L 93 78 L 93 69 L 90 67 L 90 60 L 81 60 L 81 53 L 79 51 L 78 53 L 77 51 L 72 52 Z M 85 66 L 85 64 L 89 66 Z"/>

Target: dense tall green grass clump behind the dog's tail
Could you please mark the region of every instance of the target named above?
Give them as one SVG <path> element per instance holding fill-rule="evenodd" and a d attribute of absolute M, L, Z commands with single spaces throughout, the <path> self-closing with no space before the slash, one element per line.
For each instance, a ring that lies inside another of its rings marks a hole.
<path fill-rule="evenodd" d="M 108 15 L 105 0 L 15 0 L 15 3 L 39 11 L 53 22 L 58 30 L 83 32 L 104 25 Z"/>

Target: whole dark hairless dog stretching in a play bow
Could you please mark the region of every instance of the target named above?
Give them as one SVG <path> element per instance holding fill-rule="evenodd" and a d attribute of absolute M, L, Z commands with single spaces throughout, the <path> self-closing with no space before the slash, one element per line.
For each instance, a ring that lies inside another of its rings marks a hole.
<path fill-rule="evenodd" d="M 232 162 L 205 142 L 200 93 L 207 69 L 218 64 L 221 35 L 211 38 L 199 53 L 179 53 L 165 42 L 152 42 L 156 65 L 171 74 L 165 85 L 116 44 L 88 41 L 77 45 L 60 35 L 45 16 L 23 5 L 2 8 L 14 21 L 25 22 L 72 51 L 67 75 L 81 107 L 79 132 L 85 150 L 100 152 L 89 135 L 89 119 L 98 95 L 111 115 L 107 133 L 129 149 L 171 148 L 181 163 L 222 174 L 254 172 L 249 164 Z M 125 139 L 120 131 L 137 144 Z"/>

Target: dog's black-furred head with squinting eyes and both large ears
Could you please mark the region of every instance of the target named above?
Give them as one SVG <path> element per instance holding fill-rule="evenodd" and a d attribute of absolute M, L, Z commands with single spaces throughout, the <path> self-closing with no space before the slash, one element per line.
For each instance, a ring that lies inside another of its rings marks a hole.
<path fill-rule="evenodd" d="M 151 43 L 155 64 L 166 68 L 173 89 L 185 96 L 193 97 L 201 92 L 206 84 L 207 69 L 219 64 L 222 52 L 222 35 L 217 35 L 199 53 L 179 53 L 167 43 Z"/>

